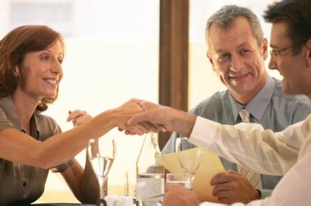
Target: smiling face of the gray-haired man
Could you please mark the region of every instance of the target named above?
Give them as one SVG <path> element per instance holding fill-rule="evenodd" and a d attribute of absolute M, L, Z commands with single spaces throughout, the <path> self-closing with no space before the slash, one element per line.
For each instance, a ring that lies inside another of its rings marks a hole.
<path fill-rule="evenodd" d="M 258 46 L 244 17 L 237 18 L 227 30 L 212 25 L 208 41 L 208 58 L 221 82 L 238 101 L 253 98 L 265 85 L 267 42 Z"/>

